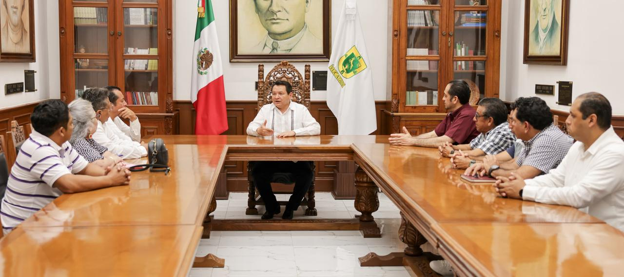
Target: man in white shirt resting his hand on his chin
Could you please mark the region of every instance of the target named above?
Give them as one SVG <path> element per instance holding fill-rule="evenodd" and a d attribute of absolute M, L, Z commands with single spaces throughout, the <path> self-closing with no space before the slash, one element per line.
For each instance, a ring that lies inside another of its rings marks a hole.
<path fill-rule="evenodd" d="M 113 109 L 110 112 L 110 118 L 113 123 L 117 126 L 117 128 L 127 135 L 134 142 L 141 142 L 141 124 L 139 122 L 139 118 L 134 114 L 132 110 L 128 107 L 127 102 L 125 102 L 124 93 L 121 92 L 119 87 L 115 87 L 114 85 L 109 85 L 105 87 L 105 89 L 109 90 L 109 101 L 110 104 L 113 105 Z M 130 126 L 126 125 L 124 120 L 130 120 Z"/>

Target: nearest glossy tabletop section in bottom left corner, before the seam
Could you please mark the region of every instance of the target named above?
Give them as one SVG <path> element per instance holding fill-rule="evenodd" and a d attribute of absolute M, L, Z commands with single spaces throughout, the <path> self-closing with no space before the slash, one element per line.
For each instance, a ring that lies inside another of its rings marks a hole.
<path fill-rule="evenodd" d="M 1 276 L 187 276 L 202 227 L 20 227 L 0 241 Z"/>

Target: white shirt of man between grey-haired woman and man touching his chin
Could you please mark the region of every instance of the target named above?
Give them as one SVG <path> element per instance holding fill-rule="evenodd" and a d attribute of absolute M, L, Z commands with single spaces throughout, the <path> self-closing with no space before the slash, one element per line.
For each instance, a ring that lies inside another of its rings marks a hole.
<path fill-rule="evenodd" d="M 100 145 L 109 148 L 110 152 L 124 159 L 147 156 L 145 147 L 139 142 L 133 142 L 110 119 L 106 124 L 102 124 L 99 120 L 97 121 L 97 130 L 93 134 L 93 139 Z"/>

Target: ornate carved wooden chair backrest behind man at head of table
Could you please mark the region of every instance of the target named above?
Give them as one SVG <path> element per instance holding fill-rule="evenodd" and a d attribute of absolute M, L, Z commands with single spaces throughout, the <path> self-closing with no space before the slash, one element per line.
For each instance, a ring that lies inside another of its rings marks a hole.
<path fill-rule="evenodd" d="M 293 86 L 293 101 L 310 109 L 310 64 L 306 64 L 305 73 L 301 73 L 287 61 L 277 64 L 265 78 L 265 66 L 258 64 L 258 110 L 263 105 L 271 104 L 271 87 L 275 81 L 285 80 Z"/>

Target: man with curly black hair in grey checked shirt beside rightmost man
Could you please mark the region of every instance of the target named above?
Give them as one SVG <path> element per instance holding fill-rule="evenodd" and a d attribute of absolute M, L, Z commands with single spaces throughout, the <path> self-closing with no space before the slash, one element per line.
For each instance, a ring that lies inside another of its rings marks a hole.
<path fill-rule="evenodd" d="M 522 152 L 509 162 L 499 162 L 488 155 L 482 163 L 466 169 L 466 175 L 509 177 L 516 173 L 522 178 L 533 178 L 557 167 L 573 140 L 553 125 L 552 112 L 539 97 L 520 97 L 511 105 L 510 127 L 524 143 Z"/>

